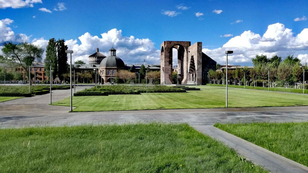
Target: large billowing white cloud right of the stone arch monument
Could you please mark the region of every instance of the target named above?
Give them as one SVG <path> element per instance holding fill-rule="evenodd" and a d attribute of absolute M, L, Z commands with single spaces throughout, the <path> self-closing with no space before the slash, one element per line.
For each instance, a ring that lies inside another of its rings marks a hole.
<path fill-rule="evenodd" d="M 305 63 L 307 49 L 308 28 L 294 35 L 292 29 L 285 28 L 281 23 L 275 23 L 268 26 L 263 36 L 250 30 L 244 31 L 241 35 L 231 38 L 221 48 L 202 49 L 202 51 L 220 64 L 225 64 L 226 50 L 233 50 L 233 54 L 228 55 L 230 64 L 249 63 L 257 54 L 265 54 L 268 57 L 278 55 L 283 58 L 294 54 Z"/>

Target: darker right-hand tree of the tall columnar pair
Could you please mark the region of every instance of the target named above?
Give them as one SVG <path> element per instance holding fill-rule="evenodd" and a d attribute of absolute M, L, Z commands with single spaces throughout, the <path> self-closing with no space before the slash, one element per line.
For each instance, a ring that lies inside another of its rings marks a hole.
<path fill-rule="evenodd" d="M 64 44 L 64 39 L 59 39 L 57 41 L 57 53 L 58 53 L 58 77 L 60 81 L 64 79 L 63 74 L 69 72 L 69 65 L 67 64 L 67 53 L 65 53 L 65 50 L 67 49 L 68 47 L 67 45 Z"/>

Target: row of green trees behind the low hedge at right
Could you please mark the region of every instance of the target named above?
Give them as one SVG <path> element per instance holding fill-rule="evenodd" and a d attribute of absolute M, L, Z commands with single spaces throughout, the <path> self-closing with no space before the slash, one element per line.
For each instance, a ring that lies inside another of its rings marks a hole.
<path fill-rule="evenodd" d="M 244 85 L 245 74 L 245 80 L 250 86 L 286 87 L 286 84 L 294 85 L 294 83 L 303 82 L 303 68 L 305 68 L 305 76 L 308 77 L 307 63 L 302 65 L 294 55 L 289 55 L 283 60 L 282 57 L 277 55 L 272 58 L 268 58 L 266 55 L 256 55 L 255 58 L 252 58 L 252 62 L 253 68 L 245 66 L 235 68 L 235 70 L 228 70 L 227 80 L 230 84 Z M 217 65 L 217 67 L 219 66 Z M 225 72 L 216 70 L 210 70 L 208 75 L 212 83 L 216 84 L 221 84 L 222 81 L 225 81 L 224 76 Z M 307 84 L 307 82 L 305 83 Z"/>

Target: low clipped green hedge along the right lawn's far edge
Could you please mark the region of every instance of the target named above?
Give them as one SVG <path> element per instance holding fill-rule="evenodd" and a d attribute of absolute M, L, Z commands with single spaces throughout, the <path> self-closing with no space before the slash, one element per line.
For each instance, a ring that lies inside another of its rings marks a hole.
<path fill-rule="evenodd" d="M 206 84 L 208 86 L 219 86 L 223 87 L 221 84 Z M 230 88 L 244 88 L 243 85 L 228 85 Z M 256 90 L 268 90 L 268 87 L 254 87 L 254 86 L 245 86 L 245 89 L 256 89 Z M 270 88 L 270 91 L 280 91 L 280 92 L 294 92 L 294 93 L 303 93 L 303 89 L 295 89 L 295 88 Z M 304 90 L 305 94 L 308 94 L 308 90 Z"/>

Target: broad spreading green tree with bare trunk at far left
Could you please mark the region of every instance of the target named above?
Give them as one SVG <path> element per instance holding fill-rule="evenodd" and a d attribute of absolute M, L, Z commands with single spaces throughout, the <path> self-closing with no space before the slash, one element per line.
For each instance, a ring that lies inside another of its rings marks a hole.
<path fill-rule="evenodd" d="M 42 61 L 44 50 L 32 43 L 19 43 L 18 45 L 6 42 L 3 43 L 1 60 L 7 63 L 13 63 L 21 66 L 26 70 L 27 77 L 29 76 L 29 67 L 34 61 Z M 30 81 L 30 79 L 28 79 Z"/>

